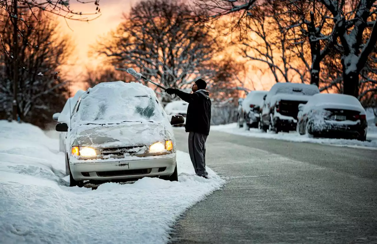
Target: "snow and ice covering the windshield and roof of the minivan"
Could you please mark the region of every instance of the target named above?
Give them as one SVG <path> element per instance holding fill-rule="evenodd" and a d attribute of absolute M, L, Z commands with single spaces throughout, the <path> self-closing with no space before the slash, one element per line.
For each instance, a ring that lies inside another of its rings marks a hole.
<path fill-rule="evenodd" d="M 73 119 L 78 124 L 160 122 L 164 117 L 156 99 L 153 90 L 140 83 L 100 83 L 81 97 Z"/>

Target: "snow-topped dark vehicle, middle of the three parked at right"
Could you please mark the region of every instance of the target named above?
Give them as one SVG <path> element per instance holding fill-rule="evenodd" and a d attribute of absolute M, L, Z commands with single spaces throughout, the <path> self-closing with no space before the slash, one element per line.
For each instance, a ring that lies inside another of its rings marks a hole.
<path fill-rule="evenodd" d="M 264 98 L 261 114 L 263 131 L 289 132 L 297 126 L 298 105 L 307 103 L 314 94 L 318 94 L 316 85 L 303 83 L 276 83 Z"/>

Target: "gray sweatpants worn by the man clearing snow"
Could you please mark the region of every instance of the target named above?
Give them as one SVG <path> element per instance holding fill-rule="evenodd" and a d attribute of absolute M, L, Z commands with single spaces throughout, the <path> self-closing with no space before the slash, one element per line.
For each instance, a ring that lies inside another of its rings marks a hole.
<path fill-rule="evenodd" d="M 205 170 L 205 141 L 207 141 L 207 135 L 196 132 L 189 133 L 190 158 L 198 176 L 208 175 Z"/>

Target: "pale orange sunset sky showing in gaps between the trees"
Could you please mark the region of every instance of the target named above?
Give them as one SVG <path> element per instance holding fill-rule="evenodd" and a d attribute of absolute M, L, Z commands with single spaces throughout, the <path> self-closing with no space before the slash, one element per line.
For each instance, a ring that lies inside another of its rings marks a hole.
<path fill-rule="evenodd" d="M 72 80 L 71 92 L 75 93 L 78 89 L 85 89 L 81 85 L 82 76 L 86 72 L 86 67 L 95 68 L 101 65 L 101 59 L 88 57 L 90 45 L 95 45 L 100 37 L 114 30 L 122 22 L 122 13 L 130 11 L 140 0 L 103 0 L 100 1 L 101 16 L 89 22 L 80 22 L 58 18 L 62 34 L 68 34 L 72 41 L 74 52 L 69 59 L 69 66 L 64 68 L 64 73 Z M 70 9 L 74 12 L 94 13 L 96 5 L 94 3 L 71 2 Z M 95 15 L 93 15 L 95 17 Z M 229 50 L 233 52 L 233 50 Z M 255 71 L 256 72 L 256 71 Z M 260 72 L 250 72 L 245 87 L 252 89 L 250 79 L 253 80 L 256 90 L 269 90 L 274 84 L 274 80 L 269 74 L 262 76 Z M 74 84 L 73 84 L 74 83 Z"/>

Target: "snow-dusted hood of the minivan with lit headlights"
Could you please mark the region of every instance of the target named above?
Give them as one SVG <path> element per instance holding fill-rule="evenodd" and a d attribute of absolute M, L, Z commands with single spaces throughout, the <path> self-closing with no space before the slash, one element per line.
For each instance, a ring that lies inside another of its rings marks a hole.
<path fill-rule="evenodd" d="M 81 147 L 127 147 L 164 141 L 166 130 L 161 124 L 98 125 L 76 132 L 74 141 Z"/>

